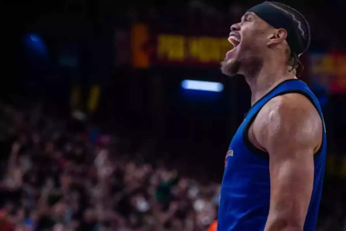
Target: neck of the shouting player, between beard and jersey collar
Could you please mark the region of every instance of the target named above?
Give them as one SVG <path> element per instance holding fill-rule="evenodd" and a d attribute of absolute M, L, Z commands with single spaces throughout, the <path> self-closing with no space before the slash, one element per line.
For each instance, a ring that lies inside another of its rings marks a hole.
<path fill-rule="evenodd" d="M 295 75 L 289 72 L 285 65 L 277 68 L 277 65 L 271 62 L 263 63 L 262 68 L 255 75 L 245 75 L 245 80 L 251 89 L 251 105 L 254 105 L 280 82 L 294 78 L 296 78 Z"/>

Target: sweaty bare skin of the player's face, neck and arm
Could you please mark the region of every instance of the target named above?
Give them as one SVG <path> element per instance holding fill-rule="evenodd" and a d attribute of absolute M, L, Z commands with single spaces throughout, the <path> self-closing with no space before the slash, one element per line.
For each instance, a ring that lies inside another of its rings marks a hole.
<path fill-rule="evenodd" d="M 252 104 L 280 82 L 296 78 L 295 70 L 291 71 L 287 33 L 253 12 L 231 26 L 229 41 L 234 48 L 227 52 L 221 71 L 228 76 L 244 75 Z M 269 155 L 270 210 L 264 231 L 303 231 L 313 189 L 313 157 L 322 143 L 322 127 L 316 108 L 297 93 L 271 99 L 256 116 L 248 137 Z"/>

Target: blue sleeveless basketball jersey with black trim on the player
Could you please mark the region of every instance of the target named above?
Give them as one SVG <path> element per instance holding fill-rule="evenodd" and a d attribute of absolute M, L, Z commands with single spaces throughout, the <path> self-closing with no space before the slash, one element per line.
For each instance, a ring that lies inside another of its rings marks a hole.
<path fill-rule="evenodd" d="M 218 231 L 263 231 L 269 213 L 270 174 L 268 153 L 248 140 L 248 129 L 260 109 L 273 97 L 288 93 L 306 96 L 316 107 L 324 125 L 321 107 L 306 83 L 298 79 L 281 82 L 258 100 L 249 110 L 234 135 L 225 159 L 221 185 Z M 322 192 L 326 162 L 326 131 L 320 149 L 315 153 L 313 190 L 304 231 L 314 231 Z"/>

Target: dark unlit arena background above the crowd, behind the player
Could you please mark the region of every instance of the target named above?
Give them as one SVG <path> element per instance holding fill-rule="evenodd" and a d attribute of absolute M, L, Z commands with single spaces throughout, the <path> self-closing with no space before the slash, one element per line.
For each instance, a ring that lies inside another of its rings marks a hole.
<path fill-rule="evenodd" d="M 71 129 L 151 140 L 170 163 L 187 163 L 182 171 L 220 182 L 227 147 L 244 114 L 251 92 L 241 77 L 229 78 L 218 63 L 158 60 L 157 35 L 225 39 L 229 27 L 259 1 L 26 1 L 4 3 L 1 99 L 18 107 L 44 105 L 45 113 L 71 122 Z M 346 87 L 331 88 L 333 68 L 314 72 L 314 55 L 344 55 L 346 3 L 282 1 L 307 17 L 312 41 L 302 55 L 306 81 L 319 97 L 328 135 L 326 188 L 345 186 Z M 240 17 L 239 17 L 240 16 Z M 145 67 L 134 65 L 133 26 L 148 30 Z M 318 62 L 318 61 L 317 61 Z M 344 63 L 344 64 L 343 64 Z M 339 66 L 346 66 L 346 60 Z M 341 70 L 341 68 L 340 68 Z M 343 78 L 346 79 L 344 71 Z M 222 92 L 184 90 L 184 79 L 221 82 Z M 326 81 L 328 79 L 328 81 Z M 90 110 L 90 88 L 100 88 Z M 78 87 L 77 103 L 71 92 Z M 71 113 L 87 117 L 79 121 Z M 170 154 L 167 154 L 170 153 Z M 161 154 L 151 157 L 161 158 Z M 343 162 L 344 161 L 344 162 Z M 341 190 L 341 189 L 340 189 Z M 341 193 L 342 195 L 342 193 Z M 344 198 L 343 198 L 344 199 Z M 340 198 L 342 200 L 342 198 Z"/>

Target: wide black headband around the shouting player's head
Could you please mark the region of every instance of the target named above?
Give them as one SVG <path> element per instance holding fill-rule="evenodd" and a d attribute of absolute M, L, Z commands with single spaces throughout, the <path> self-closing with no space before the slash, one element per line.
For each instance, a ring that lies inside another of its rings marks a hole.
<path fill-rule="evenodd" d="M 258 4 L 248 9 L 246 12 L 255 13 L 258 17 L 262 18 L 266 23 L 276 29 L 285 29 L 287 31 L 286 41 L 291 51 L 298 57 L 307 49 L 302 35 L 304 32 L 300 31 L 301 28 L 299 28 L 297 19 L 293 19 L 289 13 L 276 8 L 269 2 Z"/>

